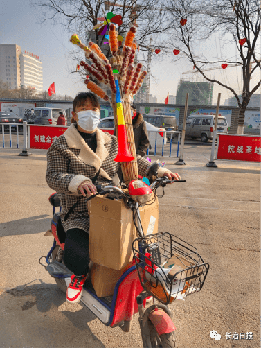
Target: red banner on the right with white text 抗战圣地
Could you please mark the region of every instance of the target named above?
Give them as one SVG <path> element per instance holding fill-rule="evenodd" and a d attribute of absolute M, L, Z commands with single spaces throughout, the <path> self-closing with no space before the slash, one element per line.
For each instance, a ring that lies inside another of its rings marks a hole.
<path fill-rule="evenodd" d="M 261 162 L 260 146 L 258 136 L 219 134 L 217 159 Z"/>

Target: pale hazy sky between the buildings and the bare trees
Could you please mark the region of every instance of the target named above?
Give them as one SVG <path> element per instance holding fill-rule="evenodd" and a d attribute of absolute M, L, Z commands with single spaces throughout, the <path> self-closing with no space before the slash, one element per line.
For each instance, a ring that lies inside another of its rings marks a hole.
<path fill-rule="evenodd" d="M 77 64 L 69 55 L 69 51 L 75 49 L 75 45 L 69 42 L 73 31 L 65 32 L 60 23 L 55 26 L 50 23 L 39 24 L 39 11 L 40 8 L 30 6 L 30 0 L 5 0 L 4 2 L 2 0 L 0 44 L 17 44 L 21 46 L 21 51 L 26 50 L 39 55 L 39 59 L 43 62 L 44 89 L 48 89 L 51 83 L 55 82 L 56 94 L 74 97 L 78 92 L 86 90 L 86 87 L 80 80 L 80 76 L 78 77 L 78 73 L 69 73 L 76 69 Z M 202 50 L 212 57 L 224 58 L 219 37 L 216 37 L 215 44 L 213 42 L 204 44 L 204 46 L 199 44 L 197 54 L 200 54 Z M 79 49 L 79 51 L 81 50 Z M 170 51 L 172 51 L 171 47 Z M 234 60 L 235 47 L 228 47 L 226 53 Z M 182 75 L 182 73 L 192 70 L 192 64 L 186 62 L 186 59 L 181 56 L 177 61 L 173 61 L 173 58 L 172 56 L 166 58 L 162 53 L 152 54 L 153 77 L 150 79 L 150 94 L 158 98 L 158 103 L 164 103 L 168 93 L 176 95 L 181 78 L 192 78 L 192 74 Z M 242 94 L 240 67 L 214 70 L 209 72 L 209 76 L 221 80 Z M 257 69 L 252 82 L 255 83 L 258 79 L 260 79 L 260 71 Z M 231 92 L 223 87 L 214 85 L 213 105 L 217 103 L 219 92 L 222 94 L 221 104 L 232 96 Z M 260 93 L 260 89 L 258 93 Z"/>

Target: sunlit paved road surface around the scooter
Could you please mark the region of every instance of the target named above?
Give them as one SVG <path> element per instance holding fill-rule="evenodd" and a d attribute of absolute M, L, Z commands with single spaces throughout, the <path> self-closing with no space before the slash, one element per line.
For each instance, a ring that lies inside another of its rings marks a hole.
<path fill-rule="evenodd" d="M 39 266 L 53 239 L 45 182 L 46 151 L 18 157 L 0 150 L 0 337 L 1 348 L 142 347 L 137 315 L 130 333 L 105 327 L 64 293 Z M 154 157 L 150 156 L 152 160 Z M 157 157 L 159 158 L 159 157 Z M 179 348 L 259 347 L 260 171 L 258 164 L 220 162 L 204 166 L 210 146 L 187 145 L 186 184 L 173 184 L 160 199 L 159 226 L 197 247 L 210 263 L 206 284 L 185 302 L 170 305 Z M 166 165 L 167 166 L 167 165 Z M 210 338 L 216 330 L 220 341 Z M 226 333 L 253 332 L 253 339 L 226 340 Z"/>

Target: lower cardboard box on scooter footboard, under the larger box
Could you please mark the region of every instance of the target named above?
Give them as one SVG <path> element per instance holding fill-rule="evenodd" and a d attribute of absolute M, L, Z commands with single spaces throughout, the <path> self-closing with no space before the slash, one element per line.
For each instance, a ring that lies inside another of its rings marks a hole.
<path fill-rule="evenodd" d="M 131 263 L 128 263 L 122 270 L 113 270 L 93 263 L 91 268 L 91 284 L 98 297 L 114 295 L 114 288 L 120 276 L 129 268 Z"/>

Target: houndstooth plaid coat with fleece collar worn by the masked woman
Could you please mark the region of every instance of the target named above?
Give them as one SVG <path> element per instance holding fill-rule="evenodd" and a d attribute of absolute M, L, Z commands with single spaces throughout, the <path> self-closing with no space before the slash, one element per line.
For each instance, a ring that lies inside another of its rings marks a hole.
<path fill-rule="evenodd" d="M 80 228 L 89 232 L 87 203 L 78 191 L 78 186 L 82 182 L 85 180 L 91 182 L 100 168 L 96 180 L 97 184 L 118 184 L 117 171 L 120 163 L 114 161 L 118 153 L 117 138 L 97 128 L 96 139 L 97 149 L 96 153 L 93 153 L 93 150 L 80 136 L 75 123 L 72 123 L 48 149 L 46 182 L 60 198 L 61 217 L 64 218 L 74 203 L 80 200 L 66 222 L 63 222 L 65 231 L 71 228 Z M 137 155 L 137 162 L 138 174 L 145 176 L 150 162 L 140 155 Z M 159 177 L 165 171 L 168 169 L 159 168 Z"/>

